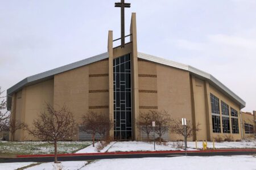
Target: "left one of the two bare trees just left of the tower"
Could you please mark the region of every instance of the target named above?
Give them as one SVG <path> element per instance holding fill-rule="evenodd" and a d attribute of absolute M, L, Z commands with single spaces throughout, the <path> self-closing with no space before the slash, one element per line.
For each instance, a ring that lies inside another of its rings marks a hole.
<path fill-rule="evenodd" d="M 98 129 L 98 114 L 96 112 L 88 112 L 82 117 L 81 129 L 92 135 L 93 147 L 95 147 L 95 135 Z"/>

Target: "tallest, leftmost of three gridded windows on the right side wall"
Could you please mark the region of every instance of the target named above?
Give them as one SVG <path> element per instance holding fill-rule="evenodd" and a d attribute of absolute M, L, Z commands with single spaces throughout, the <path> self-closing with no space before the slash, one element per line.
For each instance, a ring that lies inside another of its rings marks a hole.
<path fill-rule="evenodd" d="M 212 130 L 213 133 L 221 133 L 220 126 L 220 104 L 219 100 L 213 94 L 210 94 L 210 105 L 212 107 Z"/>

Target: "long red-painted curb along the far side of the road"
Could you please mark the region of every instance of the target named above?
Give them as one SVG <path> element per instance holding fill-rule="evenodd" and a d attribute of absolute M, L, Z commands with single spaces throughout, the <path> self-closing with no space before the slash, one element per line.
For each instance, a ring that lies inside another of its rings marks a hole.
<path fill-rule="evenodd" d="M 187 153 L 207 153 L 207 152 L 250 152 L 256 149 L 225 149 L 225 150 L 205 150 L 205 151 L 187 151 Z M 98 153 L 81 153 L 81 154 L 57 154 L 57 156 L 92 156 L 92 155 L 132 155 L 132 154 L 180 154 L 185 151 L 129 151 L 129 152 L 98 152 Z M 43 158 L 54 157 L 54 154 L 45 155 L 16 155 L 16 158 Z"/>

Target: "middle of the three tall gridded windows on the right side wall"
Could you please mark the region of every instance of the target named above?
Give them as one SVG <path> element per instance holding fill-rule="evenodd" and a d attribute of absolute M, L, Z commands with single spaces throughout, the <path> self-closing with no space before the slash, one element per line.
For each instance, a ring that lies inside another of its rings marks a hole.
<path fill-rule="evenodd" d="M 222 114 L 222 131 L 223 133 L 230 133 L 229 124 L 229 105 L 221 101 L 221 114 Z"/>

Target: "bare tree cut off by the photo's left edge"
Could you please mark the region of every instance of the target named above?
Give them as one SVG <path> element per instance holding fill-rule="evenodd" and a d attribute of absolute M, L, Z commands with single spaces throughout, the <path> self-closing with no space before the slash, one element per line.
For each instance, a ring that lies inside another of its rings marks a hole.
<path fill-rule="evenodd" d="M 8 129 L 8 122 L 10 119 L 10 114 L 8 111 L 6 111 L 7 108 L 7 102 L 5 100 L 6 96 L 2 96 L 3 92 L 1 91 L 0 87 L 0 132 L 2 132 L 5 129 Z"/>

